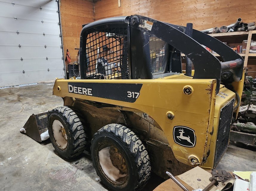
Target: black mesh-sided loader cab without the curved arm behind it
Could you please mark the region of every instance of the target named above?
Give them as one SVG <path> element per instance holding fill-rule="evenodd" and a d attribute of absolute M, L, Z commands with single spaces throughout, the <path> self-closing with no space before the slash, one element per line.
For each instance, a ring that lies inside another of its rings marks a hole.
<path fill-rule="evenodd" d="M 130 17 L 111 19 L 96 26 L 95 22 L 94 26 L 85 25 L 82 30 L 81 79 L 154 79 L 171 72 L 175 49 L 170 44 L 131 29 Z M 178 67 L 173 72 L 181 73 L 180 52 L 176 54 Z"/>

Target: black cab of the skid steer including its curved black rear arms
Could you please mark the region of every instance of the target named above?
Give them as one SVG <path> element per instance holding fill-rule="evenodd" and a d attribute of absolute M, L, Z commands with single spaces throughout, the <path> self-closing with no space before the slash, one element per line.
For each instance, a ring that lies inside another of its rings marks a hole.
<path fill-rule="evenodd" d="M 181 52 L 193 63 L 193 79 L 217 80 L 216 94 L 221 83 L 242 79 L 240 55 L 200 31 L 193 29 L 193 38 L 187 36 L 187 30 L 140 15 L 89 23 L 80 35 L 81 79 L 156 79 L 180 74 Z"/>

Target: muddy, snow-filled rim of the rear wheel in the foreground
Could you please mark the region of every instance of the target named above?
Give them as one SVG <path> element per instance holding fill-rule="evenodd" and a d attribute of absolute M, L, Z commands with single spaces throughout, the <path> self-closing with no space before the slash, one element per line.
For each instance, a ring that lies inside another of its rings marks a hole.
<path fill-rule="evenodd" d="M 128 176 L 124 157 L 114 145 L 108 145 L 98 152 L 100 167 L 104 175 L 114 183 L 122 183 Z"/>

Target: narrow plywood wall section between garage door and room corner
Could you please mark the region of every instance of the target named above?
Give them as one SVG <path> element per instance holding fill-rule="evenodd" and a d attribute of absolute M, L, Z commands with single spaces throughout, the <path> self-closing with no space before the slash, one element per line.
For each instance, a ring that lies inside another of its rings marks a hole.
<path fill-rule="evenodd" d="M 60 0 L 60 16 L 63 35 L 64 56 L 69 49 L 71 62 L 76 61 L 80 47 L 82 25 L 93 22 L 94 4 L 87 0 Z"/>

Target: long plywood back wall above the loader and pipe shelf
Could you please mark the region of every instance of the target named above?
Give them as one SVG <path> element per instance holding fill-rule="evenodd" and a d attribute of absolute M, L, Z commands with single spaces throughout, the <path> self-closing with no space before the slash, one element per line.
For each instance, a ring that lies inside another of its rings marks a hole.
<path fill-rule="evenodd" d="M 143 15 L 156 20 L 203 30 L 234 23 L 256 21 L 254 0 L 100 0 L 95 4 L 95 20 L 121 15 Z M 249 14 L 248 14 L 249 13 Z"/>

